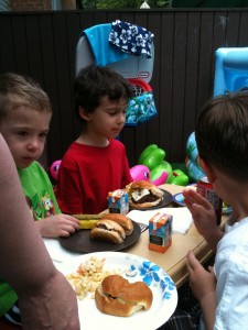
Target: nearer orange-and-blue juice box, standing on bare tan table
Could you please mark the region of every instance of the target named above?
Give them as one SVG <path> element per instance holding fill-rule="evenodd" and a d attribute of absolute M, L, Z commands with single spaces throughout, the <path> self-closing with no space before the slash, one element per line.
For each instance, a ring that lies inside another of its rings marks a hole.
<path fill-rule="evenodd" d="M 149 220 L 149 249 L 164 253 L 172 243 L 171 215 L 158 212 Z"/>

